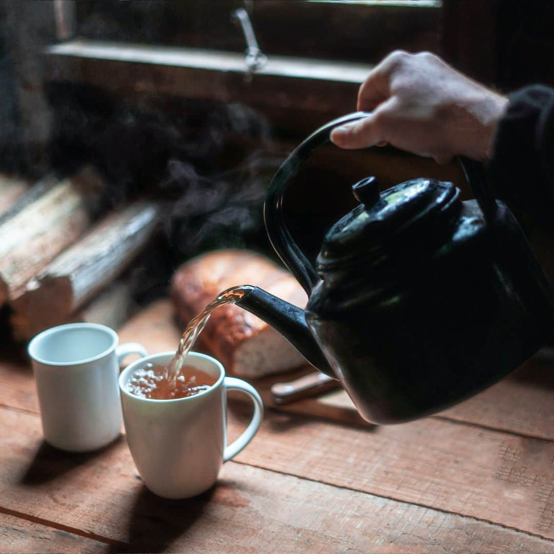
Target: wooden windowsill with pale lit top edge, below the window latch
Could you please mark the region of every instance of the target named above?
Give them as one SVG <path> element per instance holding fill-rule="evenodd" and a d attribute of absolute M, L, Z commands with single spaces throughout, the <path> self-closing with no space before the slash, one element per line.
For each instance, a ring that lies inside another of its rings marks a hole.
<path fill-rule="evenodd" d="M 268 55 L 248 77 L 236 52 L 76 39 L 44 50 L 44 78 L 93 85 L 119 98 L 241 102 L 301 135 L 356 107 L 369 64 Z"/>

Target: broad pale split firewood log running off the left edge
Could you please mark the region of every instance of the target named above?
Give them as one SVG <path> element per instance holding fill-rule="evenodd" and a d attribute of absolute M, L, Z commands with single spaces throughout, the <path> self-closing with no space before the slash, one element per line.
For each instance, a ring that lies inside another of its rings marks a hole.
<path fill-rule="evenodd" d="M 48 178 L 0 217 L 0 304 L 90 227 L 103 186 L 91 167 Z"/>

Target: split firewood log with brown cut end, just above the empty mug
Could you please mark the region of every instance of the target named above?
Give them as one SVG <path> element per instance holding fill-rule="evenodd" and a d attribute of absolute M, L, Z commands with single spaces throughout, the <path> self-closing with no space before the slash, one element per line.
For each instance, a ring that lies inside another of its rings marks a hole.
<path fill-rule="evenodd" d="M 158 207 L 136 202 L 106 216 L 9 297 L 12 310 L 40 325 L 57 325 L 111 283 L 157 228 Z"/>

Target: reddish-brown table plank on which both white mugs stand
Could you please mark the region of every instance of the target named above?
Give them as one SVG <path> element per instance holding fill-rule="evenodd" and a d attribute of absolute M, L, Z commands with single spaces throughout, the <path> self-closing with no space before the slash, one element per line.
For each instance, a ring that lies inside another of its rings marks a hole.
<path fill-rule="evenodd" d="M 95 454 L 65 454 L 42 443 L 37 416 L 0 409 L 0 418 L 0 506 L 125 542 L 130 551 L 538 553 L 554 548 L 552 541 L 489 522 L 233 462 L 207 493 L 163 500 L 137 479 L 124 441 Z"/>

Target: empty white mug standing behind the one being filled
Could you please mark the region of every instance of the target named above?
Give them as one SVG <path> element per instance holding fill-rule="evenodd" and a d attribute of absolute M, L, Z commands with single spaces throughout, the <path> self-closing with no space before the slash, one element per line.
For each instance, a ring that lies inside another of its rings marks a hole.
<path fill-rule="evenodd" d="M 146 350 L 118 342 L 113 329 L 93 323 L 59 325 L 30 341 L 44 438 L 54 447 L 87 452 L 120 434 L 120 362 Z"/>

